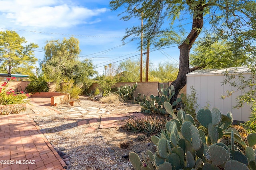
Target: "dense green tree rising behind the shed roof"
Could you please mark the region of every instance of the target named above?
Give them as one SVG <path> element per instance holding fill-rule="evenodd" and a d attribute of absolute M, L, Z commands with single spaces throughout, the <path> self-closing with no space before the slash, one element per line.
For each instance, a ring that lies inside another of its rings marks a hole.
<path fill-rule="evenodd" d="M 200 68 L 228 68 L 245 66 L 248 55 L 243 50 L 234 51 L 232 42 L 220 40 L 212 43 L 201 42 L 196 45 L 190 57 L 192 66 Z"/>

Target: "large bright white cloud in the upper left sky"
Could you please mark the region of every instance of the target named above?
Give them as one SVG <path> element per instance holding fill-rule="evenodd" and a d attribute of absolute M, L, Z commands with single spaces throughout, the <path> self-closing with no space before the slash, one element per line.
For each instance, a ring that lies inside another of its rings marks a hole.
<path fill-rule="evenodd" d="M 91 18 L 107 11 L 107 8 L 88 9 L 58 0 L 2 0 L 0 12 L 15 25 L 29 27 L 70 27 L 82 23 L 99 22 Z"/>

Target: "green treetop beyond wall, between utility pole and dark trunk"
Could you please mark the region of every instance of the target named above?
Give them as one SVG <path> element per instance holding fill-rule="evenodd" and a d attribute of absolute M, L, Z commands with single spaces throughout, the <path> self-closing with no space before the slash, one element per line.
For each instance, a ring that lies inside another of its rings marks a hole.
<path fill-rule="evenodd" d="M 159 82 L 174 81 L 178 75 L 178 67 L 170 62 L 159 63 L 158 67 L 150 72 L 150 80 Z"/>

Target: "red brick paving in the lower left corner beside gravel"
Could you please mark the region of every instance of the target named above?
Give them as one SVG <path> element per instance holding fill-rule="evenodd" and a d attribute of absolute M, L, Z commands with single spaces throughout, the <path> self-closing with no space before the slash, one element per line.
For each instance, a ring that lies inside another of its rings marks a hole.
<path fill-rule="evenodd" d="M 40 170 L 46 169 L 52 162 L 55 162 L 54 168 L 64 170 L 63 167 L 66 166 L 62 158 L 27 115 L 0 116 L 0 145 L 0 160 L 14 162 L 14 164 L 1 163 L 1 170 Z M 47 153 L 51 155 L 48 162 L 46 160 L 49 157 L 45 157 Z M 30 164 L 26 164 L 26 162 L 22 164 L 22 161 L 26 160 L 30 161 Z"/>

